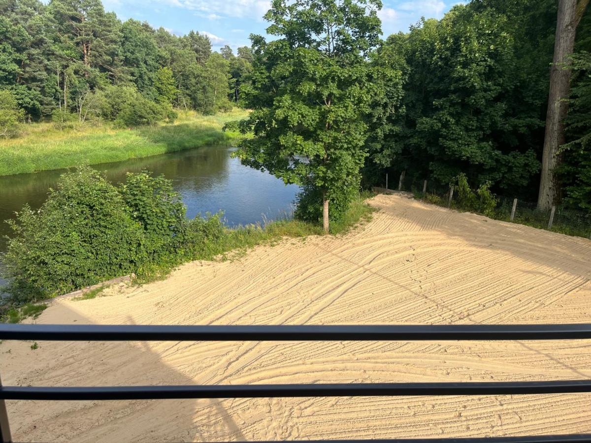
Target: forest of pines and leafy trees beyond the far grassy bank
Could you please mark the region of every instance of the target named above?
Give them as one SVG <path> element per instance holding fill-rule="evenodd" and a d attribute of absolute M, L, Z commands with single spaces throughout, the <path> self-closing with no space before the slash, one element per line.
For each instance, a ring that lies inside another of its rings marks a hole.
<path fill-rule="evenodd" d="M 1 0 L 0 133 L 48 118 L 128 127 L 173 120 L 173 108 L 227 110 L 251 58 L 248 47 L 212 52 L 199 32 L 122 22 L 100 0 Z"/>

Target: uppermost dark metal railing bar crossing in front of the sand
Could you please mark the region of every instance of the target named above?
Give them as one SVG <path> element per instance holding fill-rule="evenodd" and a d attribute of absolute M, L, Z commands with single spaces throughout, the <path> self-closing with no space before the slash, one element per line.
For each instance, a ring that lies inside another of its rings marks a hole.
<path fill-rule="evenodd" d="M 552 325 L 57 325 L 0 324 L 0 340 L 323 341 L 575 340 L 589 324 Z"/>

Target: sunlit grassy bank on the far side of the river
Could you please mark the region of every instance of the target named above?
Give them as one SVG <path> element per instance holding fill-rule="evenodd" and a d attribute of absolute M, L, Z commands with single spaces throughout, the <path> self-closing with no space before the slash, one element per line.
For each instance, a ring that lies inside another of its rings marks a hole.
<path fill-rule="evenodd" d="M 59 131 L 52 123 L 25 127 L 19 138 L 0 140 L 0 175 L 96 165 L 149 157 L 212 144 L 229 144 L 237 132 L 222 132 L 225 123 L 242 119 L 235 109 L 213 116 L 181 112 L 173 125 L 113 129 L 111 125 L 82 126 Z"/>

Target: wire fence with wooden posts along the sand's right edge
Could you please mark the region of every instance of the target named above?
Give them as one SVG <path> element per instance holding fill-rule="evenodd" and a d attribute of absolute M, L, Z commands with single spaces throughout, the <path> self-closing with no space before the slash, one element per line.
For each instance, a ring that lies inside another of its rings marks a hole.
<path fill-rule="evenodd" d="M 429 180 L 416 180 L 409 177 L 392 177 L 387 185 L 389 190 L 413 193 L 418 200 L 439 206 L 449 207 L 459 211 L 482 213 L 479 207 L 466 207 L 457 199 L 457 193 L 452 188 L 442 187 Z M 452 194 L 452 198 L 450 198 Z M 591 211 L 573 209 L 565 205 L 556 205 L 550 210 L 540 210 L 533 201 L 520 200 L 513 197 L 492 194 L 496 199 L 496 206 L 487 211 L 486 216 L 495 220 L 525 224 L 527 226 L 546 229 L 552 232 L 570 236 L 591 239 Z"/>

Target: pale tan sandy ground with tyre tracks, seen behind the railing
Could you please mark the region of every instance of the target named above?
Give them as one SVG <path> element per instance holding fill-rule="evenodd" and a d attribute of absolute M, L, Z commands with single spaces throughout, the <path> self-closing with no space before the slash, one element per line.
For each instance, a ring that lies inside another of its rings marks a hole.
<path fill-rule="evenodd" d="M 378 196 L 344 237 L 285 240 L 165 281 L 59 299 L 38 323 L 588 323 L 591 241 Z M 591 341 L 0 345 L 7 385 L 591 377 Z M 17 441 L 485 437 L 591 432 L 589 395 L 8 402 Z"/>

